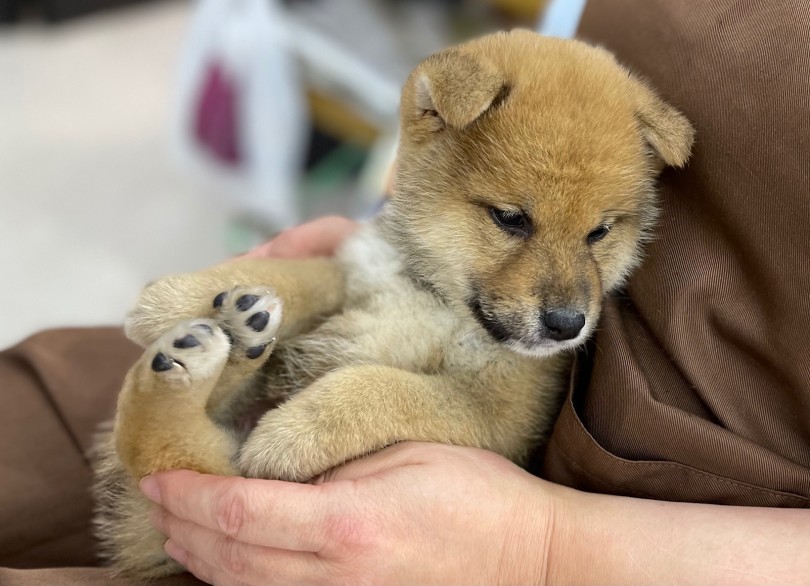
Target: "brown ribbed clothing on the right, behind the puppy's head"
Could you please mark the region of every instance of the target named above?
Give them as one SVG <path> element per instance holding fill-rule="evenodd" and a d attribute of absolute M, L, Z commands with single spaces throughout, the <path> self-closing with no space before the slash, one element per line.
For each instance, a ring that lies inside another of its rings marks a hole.
<path fill-rule="evenodd" d="M 810 4 L 590 0 L 581 36 L 697 128 L 544 465 L 584 490 L 810 506 Z"/>

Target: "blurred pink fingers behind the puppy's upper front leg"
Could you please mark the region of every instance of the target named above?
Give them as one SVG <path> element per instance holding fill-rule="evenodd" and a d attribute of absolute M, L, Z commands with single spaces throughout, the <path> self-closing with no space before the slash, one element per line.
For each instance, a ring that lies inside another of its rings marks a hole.
<path fill-rule="evenodd" d="M 307 258 L 331 256 L 359 224 L 340 216 L 319 218 L 281 232 L 270 242 L 247 252 L 245 258 Z"/>

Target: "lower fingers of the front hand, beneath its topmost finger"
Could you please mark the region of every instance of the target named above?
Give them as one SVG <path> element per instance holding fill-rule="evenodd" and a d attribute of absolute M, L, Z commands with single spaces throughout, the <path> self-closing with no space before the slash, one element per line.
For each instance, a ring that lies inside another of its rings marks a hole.
<path fill-rule="evenodd" d="M 195 576 L 216 586 L 306 584 L 327 581 L 327 567 L 314 553 L 289 552 L 236 541 L 158 507 L 153 524 L 168 538 L 166 553 Z"/>

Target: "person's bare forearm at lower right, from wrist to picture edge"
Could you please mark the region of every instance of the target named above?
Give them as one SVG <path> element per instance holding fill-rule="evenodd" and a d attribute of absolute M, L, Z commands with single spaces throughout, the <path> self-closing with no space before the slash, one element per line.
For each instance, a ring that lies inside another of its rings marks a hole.
<path fill-rule="evenodd" d="M 810 511 L 557 495 L 548 584 L 810 584 Z"/>

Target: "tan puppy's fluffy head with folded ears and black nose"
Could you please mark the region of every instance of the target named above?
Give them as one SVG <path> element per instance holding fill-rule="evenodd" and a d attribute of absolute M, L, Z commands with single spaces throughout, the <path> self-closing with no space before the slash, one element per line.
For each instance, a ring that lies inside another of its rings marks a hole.
<path fill-rule="evenodd" d="M 409 77 L 383 225 L 410 270 L 529 355 L 581 343 L 639 262 L 693 130 L 604 50 L 528 31 Z"/>

